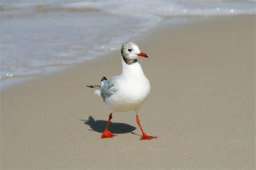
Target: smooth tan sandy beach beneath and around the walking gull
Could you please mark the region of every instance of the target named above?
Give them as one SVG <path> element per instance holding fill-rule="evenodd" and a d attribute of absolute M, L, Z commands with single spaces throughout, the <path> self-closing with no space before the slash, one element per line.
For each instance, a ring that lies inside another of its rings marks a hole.
<path fill-rule="evenodd" d="M 121 73 L 114 51 L 1 91 L 1 169 L 255 169 L 255 16 L 166 23 L 135 43 L 157 139 L 139 140 L 134 111 L 100 138 L 109 110 L 86 85 Z"/>

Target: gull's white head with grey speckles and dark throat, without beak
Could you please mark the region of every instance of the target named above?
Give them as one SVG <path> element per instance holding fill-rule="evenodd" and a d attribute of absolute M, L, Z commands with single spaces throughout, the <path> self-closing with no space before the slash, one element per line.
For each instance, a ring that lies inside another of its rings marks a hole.
<path fill-rule="evenodd" d="M 125 63 L 130 65 L 137 62 L 138 54 L 141 53 L 141 51 L 138 45 L 133 42 L 126 42 L 122 45 L 121 53 Z"/>

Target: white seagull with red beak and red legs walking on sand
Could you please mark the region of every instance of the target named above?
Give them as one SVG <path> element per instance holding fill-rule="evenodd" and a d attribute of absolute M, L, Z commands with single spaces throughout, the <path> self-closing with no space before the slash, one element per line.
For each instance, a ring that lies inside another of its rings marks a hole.
<path fill-rule="evenodd" d="M 137 44 L 126 42 L 121 49 L 122 73 L 109 80 L 106 77 L 102 77 L 100 85 L 88 86 L 96 89 L 94 93 L 101 96 L 111 110 L 109 121 L 101 138 L 116 136 L 108 130 L 112 113 L 130 110 L 135 110 L 137 114 L 136 120 L 142 131 L 141 140 L 157 138 L 156 136 L 146 135 L 139 122 L 139 108 L 150 93 L 150 82 L 144 75 L 141 64 L 138 63 L 138 57 L 148 58 L 146 53 L 139 50 Z"/>

